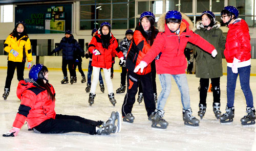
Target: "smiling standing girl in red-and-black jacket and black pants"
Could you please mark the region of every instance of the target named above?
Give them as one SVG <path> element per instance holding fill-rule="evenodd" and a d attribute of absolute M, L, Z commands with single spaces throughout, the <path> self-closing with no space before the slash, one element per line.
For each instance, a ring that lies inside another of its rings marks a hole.
<path fill-rule="evenodd" d="M 147 111 L 148 120 L 156 109 L 154 101 L 154 92 L 152 85 L 151 66 L 146 67 L 142 72 L 133 72 L 136 65 L 139 64 L 143 56 L 151 48 L 157 35 L 154 26 L 155 15 L 152 12 L 145 11 L 141 13 L 139 22 L 133 34 L 133 41 L 126 57 L 127 72 L 127 93 L 125 94 L 122 105 L 122 116 L 124 122 L 133 123 L 135 117 L 132 114 L 135 103 L 135 95 L 138 91 L 139 82 L 142 84 L 144 103 Z"/>

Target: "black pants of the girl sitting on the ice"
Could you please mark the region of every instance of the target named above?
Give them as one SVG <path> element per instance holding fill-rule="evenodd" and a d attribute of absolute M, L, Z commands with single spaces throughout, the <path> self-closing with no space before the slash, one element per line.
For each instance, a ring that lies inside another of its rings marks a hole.
<path fill-rule="evenodd" d="M 96 134 L 96 126 L 101 121 L 93 121 L 80 116 L 56 114 L 55 119 L 51 118 L 33 128 L 35 133 L 57 134 L 68 132 L 82 132 Z"/>

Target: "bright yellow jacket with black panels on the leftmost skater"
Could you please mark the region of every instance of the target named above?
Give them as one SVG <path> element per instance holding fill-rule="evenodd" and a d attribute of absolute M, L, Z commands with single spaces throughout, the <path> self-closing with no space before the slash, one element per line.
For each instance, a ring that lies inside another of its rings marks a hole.
<path fill-rule="evenodd" d="M 32 53 L 31 53 L 31 44 L 28 36 L 23 36 L 17 40 L 13 35 L 9 35 L 4 43 L 4 49 L 8 55 L 8 60 L 13 62 L 26 62 L 26 57 L 28 62 L 32 61 Z M 10 53 L 11 49 L 14 49 L 18 52 L 18 56 L 14 57 L 12 53 Z"/>

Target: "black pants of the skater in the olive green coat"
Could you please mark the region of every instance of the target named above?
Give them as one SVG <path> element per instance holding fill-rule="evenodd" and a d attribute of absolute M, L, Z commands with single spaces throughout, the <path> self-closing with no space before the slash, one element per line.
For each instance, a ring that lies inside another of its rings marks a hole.
<path fill-rule="evenodd" d="M 220 90 L 220 77 L 211 78 L 212 93 L 214 94 L 214 103 L 220 103 L 221 90 Z M 206 105 L 207 91 L 209 87 L 209 79 L 200 79 L 200 104 Z"/>

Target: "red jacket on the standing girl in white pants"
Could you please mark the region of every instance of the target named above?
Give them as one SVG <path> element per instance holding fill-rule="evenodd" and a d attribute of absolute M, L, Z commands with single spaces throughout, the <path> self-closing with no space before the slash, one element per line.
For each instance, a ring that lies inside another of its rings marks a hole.
<path fill-rule="evenodd" d="M 95 35 L 89 44 L 88 50 L 92 54 L 94 49 L 97 49 L 101 54 L 97 56 L 93 55 L 92 66 L 109 69 L 112 66 L 112 54 L 115 53 L 118 58 L 121 58 L 123 57 L 123 53 L 119 49 L 116 50 L 118 42 L 112 34 L 108 49 L 102 47 L 100 36 L 100 34 Z"/>

